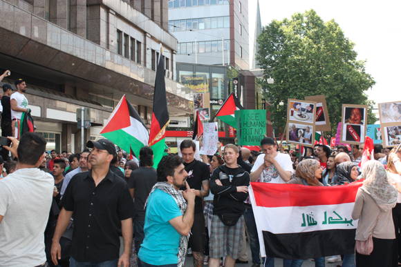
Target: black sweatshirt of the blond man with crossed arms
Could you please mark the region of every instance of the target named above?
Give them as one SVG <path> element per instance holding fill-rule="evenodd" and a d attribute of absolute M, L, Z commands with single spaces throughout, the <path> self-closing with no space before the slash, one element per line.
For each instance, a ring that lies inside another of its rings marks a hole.
<path fill-rule="evenodd" d="M 216 184 L 216 179 L 221 181 L 223 186 Z M 214 170 L 210 178 L 210 190 L 214 194 L 213 214 L 222 215 L 227 213 L 243 214 L 248 193 L 236 192 L 237 186 L 249 186 L 250 175 L 241 166 L 228 168 L 225 165 Z"/>

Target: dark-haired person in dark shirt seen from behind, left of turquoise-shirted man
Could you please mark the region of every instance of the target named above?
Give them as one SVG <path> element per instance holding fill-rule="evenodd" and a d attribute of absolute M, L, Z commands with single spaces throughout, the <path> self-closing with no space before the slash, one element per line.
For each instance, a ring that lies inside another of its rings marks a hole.
<path fill-rule="evenodd" d="M 139 151 L 139 168 L 131 172 L 128 187 L 133 202 L 133 234 L 135 235 L 135 250 L 138 253 L 144 239 L 144 204 L 157 181 L 156 170 L 153 166 L 153 150 L 144 146 Z M 140 262 L 138 262 L 140 265 Z"/>

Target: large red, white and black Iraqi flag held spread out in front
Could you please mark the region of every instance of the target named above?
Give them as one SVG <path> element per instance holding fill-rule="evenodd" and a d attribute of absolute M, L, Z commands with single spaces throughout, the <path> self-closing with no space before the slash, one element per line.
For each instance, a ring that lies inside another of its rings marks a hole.
<path fill-rule="evenodd" d="M 354 253 L 357 221 L 351 213 L 360 186 L 251 183 L 262 257 L 310 259 Z"/>

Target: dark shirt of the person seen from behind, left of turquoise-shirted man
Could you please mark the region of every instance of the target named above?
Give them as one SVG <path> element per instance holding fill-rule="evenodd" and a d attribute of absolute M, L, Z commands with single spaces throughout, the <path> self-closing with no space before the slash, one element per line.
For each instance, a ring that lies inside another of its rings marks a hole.
<path fill-rule="evenodd" d="M 154 168 L 140 167 L 131 172 L 128 187 L 133 188 L 133 219 L 144 221 L 144 204 L 149 192 L 157 181 L 157 174 Z"/>

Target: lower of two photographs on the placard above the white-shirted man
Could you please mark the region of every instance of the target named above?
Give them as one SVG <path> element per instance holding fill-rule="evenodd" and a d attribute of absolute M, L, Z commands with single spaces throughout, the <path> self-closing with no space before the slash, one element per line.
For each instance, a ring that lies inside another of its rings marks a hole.
<path fill-rule="evenodd" d="M 288 123 L 287 140 L 303 146 L 313 146 L 315 129 L 313 125 L 304 123 Z"/>

